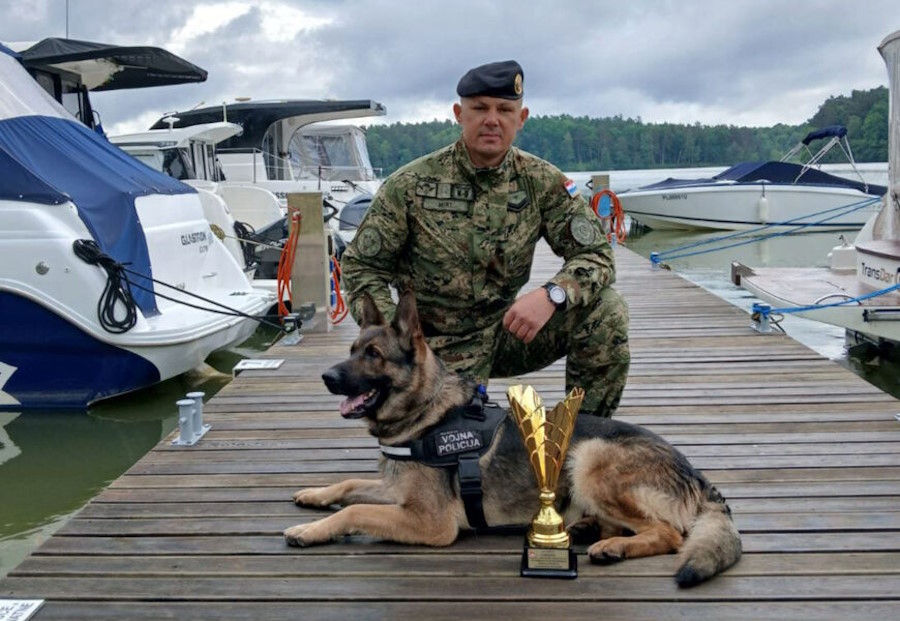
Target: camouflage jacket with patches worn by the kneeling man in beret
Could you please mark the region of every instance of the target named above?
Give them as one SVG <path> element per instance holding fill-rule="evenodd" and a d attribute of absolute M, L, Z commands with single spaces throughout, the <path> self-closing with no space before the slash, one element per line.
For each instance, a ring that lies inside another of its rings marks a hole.
<path fill-rule="evenodd" d="M 426 336 L 466 335 L 497 324 L 528 281 L 543 238 L 565 260 L 551 279 L 568 303 L 596 304 L 615 281 L 599 220 L 551 164 L 511 148 L 476 170 L 455 144 L 397 170 L 378 190 L 341 259 L 350 310 L 369 293 L 393 316 L 389 285 L 416 293 Z"/>

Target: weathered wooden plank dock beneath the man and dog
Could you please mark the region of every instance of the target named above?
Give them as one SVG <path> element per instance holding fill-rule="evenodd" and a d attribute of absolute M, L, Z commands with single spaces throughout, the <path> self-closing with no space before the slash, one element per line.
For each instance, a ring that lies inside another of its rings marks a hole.
<path fill-rule="evenodd" d="M 541 254 L 533 282 L 558 265 Z M 268 352 L 284 364 L 217 394 L 199 445 L 160 443 L 0 580 L 0 598 L 46 600 L 41 621 L 900 618 L 897 400 L 629 250 L 618 266 L 633 362 L 617 417 L 677 445 L 728 498 L 745 554 L 713 581 L 679 590 L 674 556 L 584 554 L 577 580 L 521 578 L 520 535 L 286 546 L 285 527 L 321 515 L 294 490 L 376 475 L 374 440 L 320 380 L 356 335 L 345 321 Z M 558 363 L 522 379 L 555 402 L 562 376 Z"/>

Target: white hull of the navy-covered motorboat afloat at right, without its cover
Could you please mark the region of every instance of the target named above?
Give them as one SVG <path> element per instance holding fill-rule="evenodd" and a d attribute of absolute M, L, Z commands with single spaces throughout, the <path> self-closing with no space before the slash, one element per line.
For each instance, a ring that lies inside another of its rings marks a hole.
<path fill-rule="evenodd" d="M 854 230 L 880 206 L 877 197 L 857 190 L 769 183 L 639 189 L 618 196 L 626 214 L 653 229 Z M 852 210 L 863 202 L 869 204 Z"/>

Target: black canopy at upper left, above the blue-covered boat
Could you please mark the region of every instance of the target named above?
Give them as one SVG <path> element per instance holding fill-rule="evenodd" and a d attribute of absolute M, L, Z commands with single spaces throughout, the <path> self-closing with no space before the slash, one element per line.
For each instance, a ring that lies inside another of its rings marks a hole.
<path fill-rule="evenodd" d="M 19 49 L 33 69 L 54 66 L 81 76 L 88 90 L 111 91 L 204 82 L 206 70 L 158 47 L 125 47 L 49 38 Z"/>

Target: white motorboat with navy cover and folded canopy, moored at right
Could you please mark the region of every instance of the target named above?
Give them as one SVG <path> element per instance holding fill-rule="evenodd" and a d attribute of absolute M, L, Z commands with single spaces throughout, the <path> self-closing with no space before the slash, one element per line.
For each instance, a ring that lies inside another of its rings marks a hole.
<path fill-rule="evenodd" d="M 827 142 L 815 154 L 809 145 Z M 835 147 L 843 151 L 850 179 L 821 169 Z M 791 162 L 805 152 L 809 159 Z M 618 194 L 625 212 L 653 229 L 767 230 L 860 229 L 878 211 L 887 188 L 867 183 L 842 126 L 810 132 L 779 161 L 742 162 L 704 179 L 669 178 Z"/>

